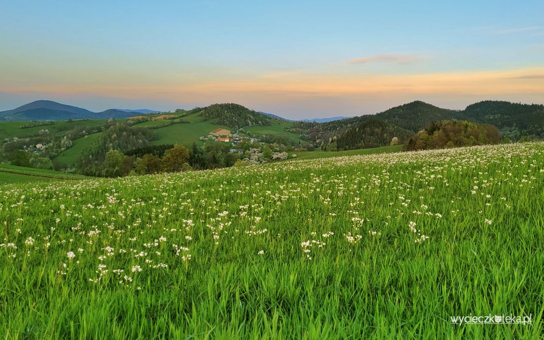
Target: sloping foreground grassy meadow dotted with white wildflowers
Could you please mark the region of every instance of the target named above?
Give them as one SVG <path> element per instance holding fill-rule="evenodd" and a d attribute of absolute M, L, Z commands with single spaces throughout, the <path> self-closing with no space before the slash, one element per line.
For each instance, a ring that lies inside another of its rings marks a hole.
<path fill-rule="evenodd" d="M 543 334 L 544 143 L 16 183 L 0 197 L 6 339 Z M 488 314 L 531 324 L 450 319 Z"/>

